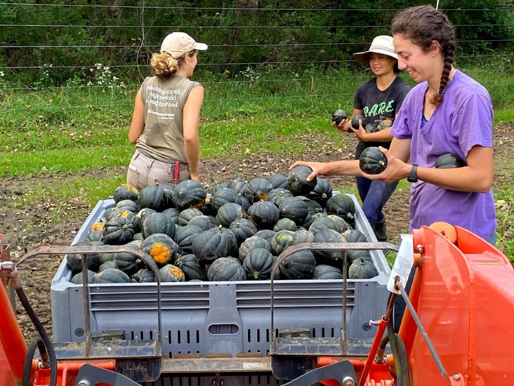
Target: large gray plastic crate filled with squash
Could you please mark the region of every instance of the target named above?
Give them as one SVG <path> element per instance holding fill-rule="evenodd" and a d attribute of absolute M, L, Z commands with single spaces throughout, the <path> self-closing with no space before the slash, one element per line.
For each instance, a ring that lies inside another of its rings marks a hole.
<path fill-rule="evenodd" d="M 376 241 L 354 195 L 356 229 Z M 114 200 L 99 201 L 82 225 L 76 243 L 85 238 Z M 379 275 L 347 280 L 346 336 L 373 338 L 369 321 L 377 320 L 388 299 L 390 268 L 381 251 L 372 251 Z M 53 339 L 81 341 L 84 335 L 82 287 L 69 282 L 63 261 L 51 284 Z M 126 339 L 152 339 L 157 329 L 155 283 L 90 285 L 91 332 L 126 331 Z M 175 354 L 260 352 L 271 338 L 270 282 L 163 283 L 162 352 Z M 278 280 L 274 286 L 276 328 L 308 327 L 314 337 L 339 337 L 342 326 L 342 280 Z"/>

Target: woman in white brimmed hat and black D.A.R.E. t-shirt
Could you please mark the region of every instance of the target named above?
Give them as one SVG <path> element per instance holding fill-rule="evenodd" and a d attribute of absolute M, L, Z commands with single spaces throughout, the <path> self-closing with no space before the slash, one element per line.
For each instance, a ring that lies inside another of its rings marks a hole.
<path fill-rule="evenodd" d="M 356 130 L 351 125 L 351 118 L 333 124 L 340 131 L 353 132 L 359 139 L 355 158 L 359 159 L 362 151 L 370 146 L 382 146 L 389 149 L 393 136 L 391 125 L 400 109 L 403 98 L 410 86 L 396 76 L 398 56 L 394 52 L 393 38 L 382 35 L 373 39 L 368 51 L 354 54 L 361 63 L 369 63 L 375 78 L 362 83 L 355 93 L 353 116 L 360 114 Z M 362 210 L 368 218 L 378 241 L 386 241 L 386 221 L 382 208 L 386 205 L 396 188 L 397 182 L 387 184 L 378 180 L 356 177 Z"/>

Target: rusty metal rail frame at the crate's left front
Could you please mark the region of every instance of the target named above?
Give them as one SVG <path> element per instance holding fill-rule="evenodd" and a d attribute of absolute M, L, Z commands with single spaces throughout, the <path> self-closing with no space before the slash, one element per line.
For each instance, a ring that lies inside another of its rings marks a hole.
<path fill-rule="evenodd" d="M 90 310 L 89 310 L 89 286 L 88 286 L 88 277 L 87 277 L 87 259 L 84 258 L 85 255 L 89 253 L 118 253 L 118 252 L 127 252 L 132 253 L 144 262 L 146 266 L 148 266 L 155 275 L 155 279 L 157 282 L 157 336 L 155 339 L 155 345 L 139 345 L 134 344 L 134 342 L 126 342 L 127 344 L 109 342 L 115 349 L 109 348 L 106 350 L 105 347 L 98 347 L 97 350 L 93 350 L 93 336 L 91 335 L 91 325 L 90 325 Z M 83 295 L 83 306 L 84 306 L 84 335 L 85 335 L 85 344 L 84 344 L 84 354 L 81 355 L 81 344 L 74 343 L 74 346 L 71 347 L 69 344 L 67 348 L 64 349 L 64 353 L 67 356 L 71 357 L 80 357 L 84 356 L 85 358 L 95 358 L 95 357 L 116 357 L 117 354 L 120 357 L 141 357 L 141 356 L 151 356 L 151 357 L 161 357 L 161 337 L 162 337 L 162 323 L 161 323 L 161 291 L 160 291 L 160 278 L 159 278 L 159 269 L 155 264 L 155 261 L 148 255 L 146 252 L 142 251 L 140 248 L 135 247 L 134 245 L 98 245 L 98 246 L 80 246 L 80 247 L 64 247 L 61 245 L 57 246 L 44 246 L 35 248 L 30 252 L 27 252 L 22 259 L 16 264 L 16 267 L 24 264 L 25 261 L 33 258 L 38 255 L 66 255 L 66 254 L 80 254 L 81 255 L 81 263 L 82 263 L 82 295 Z M 131 343 L 131 344 L 130 344 Z M 57 345 L 58 346 L 58 345 Z M 116 347 L 119 346 L 119 347 Z M 58 347 L 57 347 L 58 348 Z M 56 350 L 57 351 L 57 350 Z M 107 354 L 108 353 L 108 354 Z"/>

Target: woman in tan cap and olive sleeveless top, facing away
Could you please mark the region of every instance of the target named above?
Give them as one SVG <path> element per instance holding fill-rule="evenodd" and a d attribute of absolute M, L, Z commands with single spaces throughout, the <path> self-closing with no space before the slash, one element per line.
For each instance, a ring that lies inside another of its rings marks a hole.
<path fill-rule="evenodd" d="M 128 165 L 127 183 L 172 185 L 200 182 L 198 124 L 204 87 L 189 78 L 198 50 L 207 49 L 187 33 L 173 32 L 150 61 L 155 76 L 144 79 L 136 95 L 128 141 L 136 151 Z"/>

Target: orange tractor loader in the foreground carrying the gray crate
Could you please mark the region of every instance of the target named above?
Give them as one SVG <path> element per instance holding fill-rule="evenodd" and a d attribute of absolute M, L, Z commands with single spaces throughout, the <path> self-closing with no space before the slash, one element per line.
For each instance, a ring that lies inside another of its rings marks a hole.
<path fill-rule="evenodd" d="M 91 248 L 113 252 L 130 247 L 81 247 L 80 251 L 77 247 L 42 247 L 22 260 L 38 254 L 86 254 L 93 252 Z M 514 384 L 514 270 L 505 255 L 465 229 L 448 224 L 424 226 L 402 235 L 399 249 L 388 243 L 304 243 L 288 248 L 279 259 L 299 249 L 385 248 L 398 250 L 398 256 L 388 283 L 391 295 L 384 314 L 370 321 L 376 334 L 368 356 L 348 354 L 348 347 L 358 342 L 344 339 L 344 331 L 340 338 L 317 338 L 298 329 L 274 328 L 271 280 L 273 338 L 269 356 L 262 358 L 267 364 L 259 367 L 251 358 L 225 358 L 222 365 L 227 369 L 238 365 L 245 368 L 246 363 L 247 372 L 269 365 L 273 376 L 284 380 L 281 384 L 291 386 Z M 156 270 L 153 261 L 140 250 L 130 252 L 140 254 Z M 85 342 L 51 343 L 8 257 L 8 246 L 2 245 L 0 238 L 4 284 L 0 286 L 0 384 L 130 386 L 154 381 L 176 367 L 172 363 L 175 359 L 162 356 L 159 339 L 91 342 L 86 329 Z M 415 274 L 407 294 L 404 286 L 412 267 Z M 41 338 L 29 346 L 11 307 L 9 287 L 20 297 L 40 334 Z M 87 285 L 84 289 L 87 291 Z M 396 334 L 392 314 L 397 296 L 405 299 L 407 308 Z M 85 325 L 88 327 L 87 320 Z M 34 358 L 36 349 L 39 356 Z M 223 359 L 216 361 L 219 366 Z M 198 367 L 211 364 L 208 358 L 197 361 Z M 229 386 L 225 382 L 211 384 Z"/>

